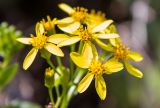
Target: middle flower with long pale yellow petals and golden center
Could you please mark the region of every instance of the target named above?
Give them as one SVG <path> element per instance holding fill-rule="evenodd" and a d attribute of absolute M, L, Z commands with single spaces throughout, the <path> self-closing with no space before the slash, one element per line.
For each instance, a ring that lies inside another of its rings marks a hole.
<path fill-rule="evenodd" d="M 59 47 L 67 46 L 71 44 L 75 44 L 79 41 L 83 41 L 85 43 L 90 43 L 95 39 L 110 39 L 110 38 L 118 38 L 119 35 L 112 33 L 112 34 L 105 34 L 99 33 L 100 31 L 106 29 L 113 21 L 107 20 L 99 24 L 98 26 L 90 29 L 90 28 L 79 28 L 76 32 L 72 33 L 72 37 L 69 37 L 66 40 L 61 41 L 57 45 Z M 67 30 L 69 31 L 69 30 Z M 91 44 L 88 44 L 91 45 Z"/>

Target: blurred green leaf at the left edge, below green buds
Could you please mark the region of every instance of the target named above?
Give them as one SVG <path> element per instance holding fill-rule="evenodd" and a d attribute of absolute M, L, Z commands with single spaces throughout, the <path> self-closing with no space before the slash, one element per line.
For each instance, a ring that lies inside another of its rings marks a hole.
<path fill-rule="evenodd" d="M 15 63 L 0 70 L 0 89 L 3 89 L 16 75 L 18 64 Z"/>

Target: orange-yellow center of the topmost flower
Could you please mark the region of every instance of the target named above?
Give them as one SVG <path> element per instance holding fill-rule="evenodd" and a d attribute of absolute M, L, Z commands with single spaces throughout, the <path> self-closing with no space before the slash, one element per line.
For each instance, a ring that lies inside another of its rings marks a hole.
<path fill-rule="evenodd" d="M 87 16 L 87 9 L 83 7 L 74 8 L 75 12 L 71 15 L 76 21 L 84 21 Z"/>

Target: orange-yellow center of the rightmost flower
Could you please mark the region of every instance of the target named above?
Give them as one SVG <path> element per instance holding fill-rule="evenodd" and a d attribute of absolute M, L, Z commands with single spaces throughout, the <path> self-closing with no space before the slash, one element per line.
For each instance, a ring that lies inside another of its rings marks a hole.
<path fill-rule="evenodd" d="M 125 45 L 119 44 L 114 52 L 116 59 L 124 60 L 127 59 L 129 48 Z"/>

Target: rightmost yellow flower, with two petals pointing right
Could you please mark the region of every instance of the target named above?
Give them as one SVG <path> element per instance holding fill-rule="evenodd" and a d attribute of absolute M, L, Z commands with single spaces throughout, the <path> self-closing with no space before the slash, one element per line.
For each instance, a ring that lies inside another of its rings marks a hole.
<path fill-rule="evenodd" d="M 143 60 L 143 57 L 141 54 L 137 52 L 133 52 L 130 50 L 130 48 L 126 45 L 123 45 L 120 39 L 112 40 L 112 45 L 114 47 L 108 46 L 106 44 L 99 44 L 104 50 L 113 52 L 113 59 L 123 61 L 125 64 L 125 67 L 127 71 L 138 78 L 143 77 L 143 73 L 138 70 L 137 68 L 133 67 L 129 60 L 133 60 L 135 62 L 140 62 Z"/>

